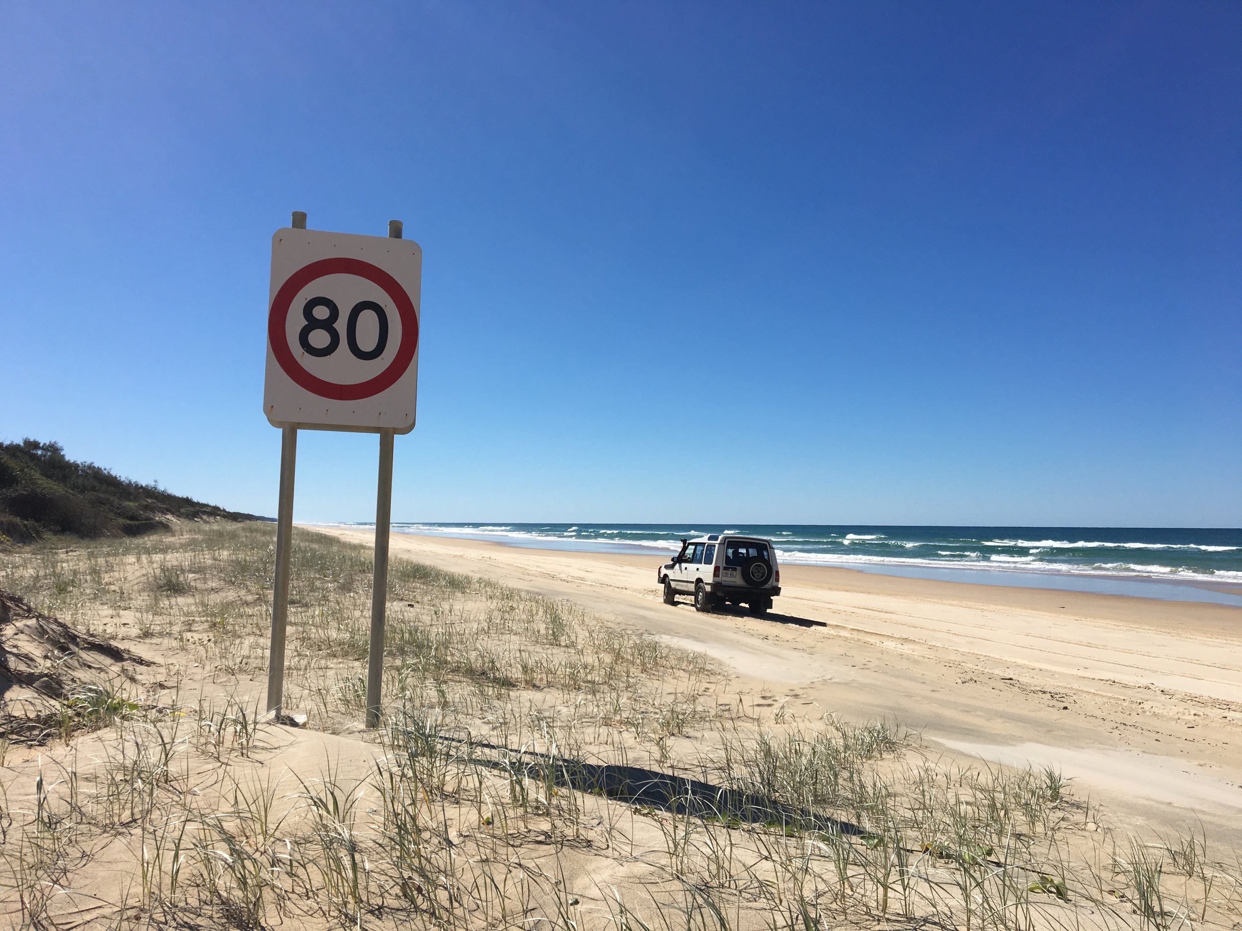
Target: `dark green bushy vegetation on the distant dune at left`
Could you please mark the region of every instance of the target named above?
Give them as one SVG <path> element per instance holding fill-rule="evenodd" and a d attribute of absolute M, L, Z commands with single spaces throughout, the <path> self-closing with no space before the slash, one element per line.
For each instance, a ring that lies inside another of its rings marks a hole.
<path fill-rule="evenodd" d="M 65 456 L 60 443 L 0 443 L 0 542 L 138 536 L 176 520 L 255 520 Z"/>

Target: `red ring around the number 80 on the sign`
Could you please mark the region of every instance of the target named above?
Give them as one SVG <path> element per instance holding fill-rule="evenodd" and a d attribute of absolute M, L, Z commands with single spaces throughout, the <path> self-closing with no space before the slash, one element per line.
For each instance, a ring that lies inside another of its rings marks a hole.
<path fill-rule="evenodd" d="M 320 379 L 303 369 L 293 355 L 293 350 L 289 349 L 284 326 L 293 298 L 315 278 L 323 278 L 328 274 L 354 274 L 378 284 L 385 294 L 392 298 L 392 303 L 396 304 L 396 310 L 401 315 L 401 345 L 397 346 L 396 355 L 384 367 L 384 371 L 366 381 L 340 385 Z M 363 262 L 360 258 L 322 258 L 296 271 L 276 292 L 272 309 L 267 315 L 267 343 L 272 346 L 272 354 L 284 374 L 310 394 L 333 401 L 359 401 L 392 387 L 396 380 L 405 375 L 410 362 L 414 361 L 415 351 L 419 349 L 419 314 L 414 309 L 410 295 L 405 293 L 405 288 L 383 268 L 373 266 L 370 262 Z"/>

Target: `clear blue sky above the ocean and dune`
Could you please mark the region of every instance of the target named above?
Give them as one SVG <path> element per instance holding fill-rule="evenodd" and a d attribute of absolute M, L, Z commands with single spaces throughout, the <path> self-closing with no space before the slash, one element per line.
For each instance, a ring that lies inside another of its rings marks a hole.
<path fill-rule="evenodd" d="M 424 248 L 395 520 L 1240 526 L 1240 47 L 1232 1 L 0 2 L 0 436 L 273 514 L 304 210 Z M 303 433 L 297 518 L 375 458 Z"/>

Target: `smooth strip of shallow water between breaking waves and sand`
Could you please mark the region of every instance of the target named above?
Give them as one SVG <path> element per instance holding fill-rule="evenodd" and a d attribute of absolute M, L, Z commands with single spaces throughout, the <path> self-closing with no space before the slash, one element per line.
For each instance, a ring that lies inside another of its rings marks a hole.
<path fill-rule="evenodd" d="M 374 533 L 374 524 L 313 524 L 320 529 L 342 529 Z M 518 536 L 488 531 L 486 528 L 462 531 L 431 531 L 426 526 L 417 530 L 392 526 L 394 534 L 417 536 L 431 540 L 469 540 L 474 542 L 496 544 L 518 550 L 540 550 L 565 554 L 607 554 L 635 555 L 646 559 L 667 556 L 667 549 L 645 542 L 623 542 L 609 540 L 571 540 L 561 537 Z M 776 541 L 779 542 L 779 541 Z M 781 569 L 822 569 L 828 571 L 858 572 L 869 576 L 889 578 L 918 578 L 969 586 L 999 588 L 1042 590 L 1049 592 L 1078 592 L 1105 595 L 1124 598 L 1140 598 L 1172 602 L 1197 602 L 1242 607 L 1242 582 L 1218 582 L 1210 578 L 1166 577 L 1159 575 L 1123 575 L 1109 572 L 1082 572 L 1059 567 L 1032 570 L 1010 569 L 1002 565 L 944 565 L 920 564 L 877 564 L 868 561 L 847 562 L 841 560 L 832 565 L 781 559 Z"/>

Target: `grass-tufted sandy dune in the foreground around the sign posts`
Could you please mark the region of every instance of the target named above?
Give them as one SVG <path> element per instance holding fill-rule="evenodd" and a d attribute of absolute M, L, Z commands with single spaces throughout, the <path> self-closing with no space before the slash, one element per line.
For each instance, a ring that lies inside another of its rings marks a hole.
<path fill-rule="evenodd" d="M 0 587 L 161 655 L 0 744 L 0 915 L 53 927 L 1237 927 L 1202 833 L 1135 839 L 1052 770 L 738 694 L 580 607 L 394 560 L 364 732 L 365 547 L 296 530 L 286 695 L 261 714 L 273 528 L 0 552 Z M 299 746 L 323 741 L 294 766 Z M 16 761 L 19 751 L 25 758 Z M 108 876 L 104 886 L 93 875 Z M 120 881 L 118 881 L 120 878 Z"/>

